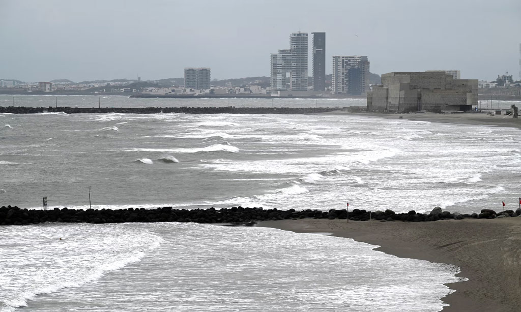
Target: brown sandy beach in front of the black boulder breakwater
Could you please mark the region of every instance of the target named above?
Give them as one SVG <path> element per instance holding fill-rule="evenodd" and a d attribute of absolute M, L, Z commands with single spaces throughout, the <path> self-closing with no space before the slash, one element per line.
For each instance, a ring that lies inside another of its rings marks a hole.
<path fill-rule="evenodd" d="M 299 219 L 259 226 L 330 232 L 379 245 L 376 250 L 395 256 L 456 265 L 461 268 L 457 276 L 468 281 L 448 284 L 455 292 L 442 298 L 450 305 L 446 312 L 520 310 L 521 217 L 422 223 Z"/>

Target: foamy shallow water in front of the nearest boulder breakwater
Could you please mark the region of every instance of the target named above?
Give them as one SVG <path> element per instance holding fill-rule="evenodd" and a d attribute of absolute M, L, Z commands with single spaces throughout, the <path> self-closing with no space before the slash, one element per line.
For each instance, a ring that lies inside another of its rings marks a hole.
<path fill-rule="evenodd" d="M 0 227 L 0 311 L 438 311 L 457 268 L 215 225 Z M 61 238 L 62 240 L 59 240 Z"/>

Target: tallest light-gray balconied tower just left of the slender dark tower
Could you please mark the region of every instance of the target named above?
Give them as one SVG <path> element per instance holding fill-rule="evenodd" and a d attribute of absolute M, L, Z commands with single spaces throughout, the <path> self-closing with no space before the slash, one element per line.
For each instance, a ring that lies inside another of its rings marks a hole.
<path fill-rule="evenodd" d="M 292 33 L 290 36 L 290 50 L 290 89 L 293 91 L 307 91 L 307 33 Z"/>

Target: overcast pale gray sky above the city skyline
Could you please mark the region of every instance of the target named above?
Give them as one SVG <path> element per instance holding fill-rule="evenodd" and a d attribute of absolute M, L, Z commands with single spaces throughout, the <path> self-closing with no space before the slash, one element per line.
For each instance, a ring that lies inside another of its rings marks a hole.
<path fill-rule="evenodd" d="M 326 32 L 327 73 L 333 55 L 367 55 L 377 74 L 517 79 L 521 0 L 0 0 L 0 79 L 268 76 L 296 31 Z"/>

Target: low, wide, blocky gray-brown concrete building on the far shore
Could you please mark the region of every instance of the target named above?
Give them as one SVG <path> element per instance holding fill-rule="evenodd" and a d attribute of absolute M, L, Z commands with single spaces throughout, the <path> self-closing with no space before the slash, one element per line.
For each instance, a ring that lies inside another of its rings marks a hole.
<path fill-rule="evenodd" d="M 369 111 L 467 111 L 478 103 L 477 79 L 445 72 L 391 72 L 367 94 Z"/>

